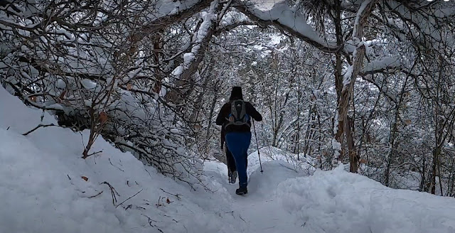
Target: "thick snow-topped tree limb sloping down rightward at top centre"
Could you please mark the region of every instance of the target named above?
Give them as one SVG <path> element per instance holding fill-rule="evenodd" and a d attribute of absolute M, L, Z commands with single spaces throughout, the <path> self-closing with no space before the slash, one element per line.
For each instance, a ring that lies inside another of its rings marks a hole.
<path fill-rule="evenodd" d="M 235 8 L 245 13 L 253 21 L 257 21 L 259 25 L 276 26 L 320 50 L 334 52 L 338 49 L 335 41 L 327 41 L 326 38 L 323 38 L 306 23 L 307 16 L 286 2 L 278 2 L 268 11 L 258 9 L 254 1 L 237 1 Z"/>

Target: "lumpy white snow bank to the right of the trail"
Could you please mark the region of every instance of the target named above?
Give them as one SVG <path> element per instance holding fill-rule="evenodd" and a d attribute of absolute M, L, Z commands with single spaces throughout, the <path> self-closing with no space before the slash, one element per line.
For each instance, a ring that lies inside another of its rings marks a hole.
<path fill-rule="evenodd" d="M 304 232 L 455 232 L 455 199 L 393 190 L 362 175 L 316 171 L 278 187 Z"/>

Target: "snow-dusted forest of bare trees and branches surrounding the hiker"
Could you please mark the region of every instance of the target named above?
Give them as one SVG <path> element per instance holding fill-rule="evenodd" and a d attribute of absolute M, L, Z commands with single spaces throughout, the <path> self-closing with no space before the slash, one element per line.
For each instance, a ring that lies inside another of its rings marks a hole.
<path fill-rule="evenodd" d="M 6 0 L 0 84 L 41 113 L 23 136 L 87 132 L 74 159 L 105 140 L 189 190 L 225 163 L 215 119 L 241 86 L 250 153 L 455 197 L 454 30 L 442 0 Z"/>

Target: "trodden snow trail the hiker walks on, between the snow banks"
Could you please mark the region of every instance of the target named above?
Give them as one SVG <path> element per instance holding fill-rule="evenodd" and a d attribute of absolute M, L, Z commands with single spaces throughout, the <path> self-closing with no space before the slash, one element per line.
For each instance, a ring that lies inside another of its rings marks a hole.
<path fill-rule="evenodd" d="M 264 159 L 264 158 L 263 158 Z M 205 165 L 205 173 L 218 181 L 231 195 L 230 214 L 240 225 L 242 232 L 301 232 L 303 224 L 294 221 L 294 217 L 284 210 L 277 195 L 280 183 L 288 178 L 304 174 L 297 173 L 284 161 L 266 161 L 262 164 L 264 173 L 260 172 L 257 153 L 249 156 L 248 193 L 236 195 L 238 179 L 235 184 L 228 183 L 227 168 L 218 162 Z"/>

